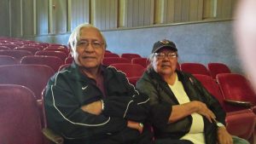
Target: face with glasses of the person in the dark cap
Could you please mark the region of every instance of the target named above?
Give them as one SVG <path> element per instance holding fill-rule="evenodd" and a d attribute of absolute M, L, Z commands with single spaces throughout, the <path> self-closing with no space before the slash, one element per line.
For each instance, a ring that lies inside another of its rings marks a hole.
<path fill-rule="evenodd" d="M 177 52 L 170 49 L 160 49 L 154 54 L 153 68 L 160 75 L 172 75 L 177 66 Z"/>

